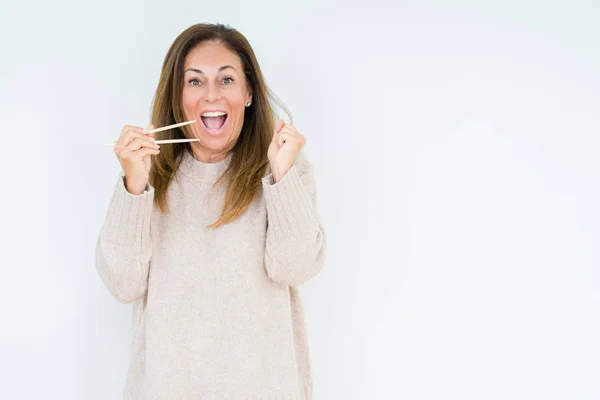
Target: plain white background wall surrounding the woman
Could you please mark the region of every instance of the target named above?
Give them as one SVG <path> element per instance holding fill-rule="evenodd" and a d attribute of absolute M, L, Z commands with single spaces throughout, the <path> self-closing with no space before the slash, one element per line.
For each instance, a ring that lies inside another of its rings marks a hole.
<path fill-rule="evenodd" d="M 3 4 L 0 398 L 120 398 L 102 143 L 198 22 L 246 35 L 308 138 L 317 400 L 600 398 L 600 3 L 566 0 Z"/>

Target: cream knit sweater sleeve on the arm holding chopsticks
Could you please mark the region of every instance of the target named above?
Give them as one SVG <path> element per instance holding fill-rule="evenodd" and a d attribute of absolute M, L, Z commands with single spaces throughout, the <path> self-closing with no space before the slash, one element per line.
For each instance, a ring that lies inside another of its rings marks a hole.
<path fill-rule="evenodd" d="M 150 219 L 154 188 L 133 195 L 119 177 L 96 244 L 96 269 L 121 303 L 131 303 L 146 293 L 152 253 Z"/>

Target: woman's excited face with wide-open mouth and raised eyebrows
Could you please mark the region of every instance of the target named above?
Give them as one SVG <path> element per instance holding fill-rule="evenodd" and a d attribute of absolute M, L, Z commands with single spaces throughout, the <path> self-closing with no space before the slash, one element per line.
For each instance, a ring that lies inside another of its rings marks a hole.
<path fill-rule="evenodd" d="M 221 43 L 204 42 L 185 58 L 182 103 L 191 131 L 194 156 L 217 162 L 237 141 L 244 124 L 246 103 L 252 101 L 242 62 Z"/>

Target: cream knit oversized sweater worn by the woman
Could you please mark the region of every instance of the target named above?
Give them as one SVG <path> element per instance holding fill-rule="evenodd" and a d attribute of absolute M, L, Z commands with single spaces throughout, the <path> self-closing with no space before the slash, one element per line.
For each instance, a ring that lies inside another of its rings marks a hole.
<path fill-rule="evenodd" d="M 133 302 L 126 400 L 311 399 L 298 285 L 325 260 L 312 166 L 301 152 L 237 220 L 219 217 L 231 162 L 185 152 L 168 190 L 170 213 L 119 177 L 98 238 L 96 268 L 122 303 Z"/>

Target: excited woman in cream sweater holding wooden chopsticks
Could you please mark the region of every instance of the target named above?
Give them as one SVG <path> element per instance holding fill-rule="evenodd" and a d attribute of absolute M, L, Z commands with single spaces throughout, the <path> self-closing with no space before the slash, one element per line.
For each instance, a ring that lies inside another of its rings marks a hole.
<path fill-rule="evenodd" d="M 125 126 L 98 273 L 134 303 L 125 399 L 310 399 L 297 286 L 323 266 L 305 138 L 274 124 L 246 38 L 199 24 L 169 49 L 152 125 Z M 164 135 L 163 135 L 164 133 Z"/>

